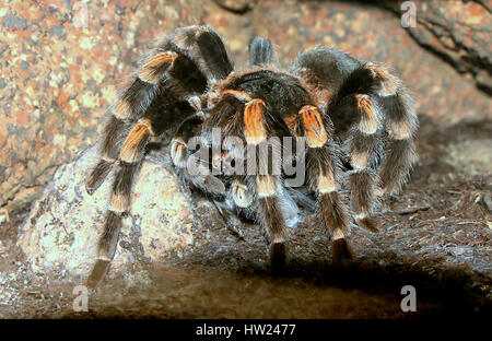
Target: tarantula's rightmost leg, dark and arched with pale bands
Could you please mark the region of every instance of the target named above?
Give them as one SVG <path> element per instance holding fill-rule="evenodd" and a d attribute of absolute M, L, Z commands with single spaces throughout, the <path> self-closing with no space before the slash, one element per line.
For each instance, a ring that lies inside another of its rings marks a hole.
<path fill-rule="evenodd" d="M 396 192 L 408 177 L 414 161 L 413 134 L 418 128 L 418 118 L 413 110 L 412 99 L 401 81 L 382 66 L 371 62 L 360 63 L 343 79 L 333 99 L 329 103 L 327 113 L 333 120 L 337 131 L 345 131 L 352 121 L 347 124 L 345 108 L 351 96 L 359 101 L 359 107 L 364 108 L 356 115 L 359 130 L 362 133 L 375 133 L 378 121 L 385 127 L 389 142 L 385 146 L 385 158 L 379 172 L 384 192 Z M 372 104 L 372 105 L 370 105 Z M 365 113 L 377 113 L 376 120 L 367 120 Z M 373 127 L 374 126 L 374 127 Z M 374 131 L 373 131 L 374 130 Z M 363 161 L 360 158 L 359 161 Z M 353 160 L 353 162 L 358 162 Z M 366 175 L 365 180 L 375 183 L 375 175 Z M 360 185 L 365 184 L 363 179 Z M 366 196 L 367 198 L 368 196 Z"/>

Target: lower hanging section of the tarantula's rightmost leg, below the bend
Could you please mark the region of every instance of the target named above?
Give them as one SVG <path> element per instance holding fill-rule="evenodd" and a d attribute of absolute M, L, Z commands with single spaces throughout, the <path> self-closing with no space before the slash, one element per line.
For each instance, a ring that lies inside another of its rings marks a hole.
<path fill-rule="evenodd" d="M 415 161 L 413 136 L 419 121 L 412 99 L 405 89 L 399 90 L 394 96 L 384 97 L 382 102 L 386 111 L 389 141 L 385 146 L 379 177 L 383 190 L 386 193 L 394 193 L 401 188 Z"/>

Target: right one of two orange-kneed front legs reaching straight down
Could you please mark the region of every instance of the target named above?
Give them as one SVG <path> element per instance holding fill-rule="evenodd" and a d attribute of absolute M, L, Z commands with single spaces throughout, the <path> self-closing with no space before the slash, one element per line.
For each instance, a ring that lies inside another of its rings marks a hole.
<path fill-rule="evenodd" d="M 300 110 L 301 134 L 307 141 L 307 175 L 311 188 L 317 195 L 317 204 L 323 224 L 332 238 L 335 260 L 351 259 L 352 251 L 345 236 L 349 234 L 349 219 L 338 193 L 340 151 L 327 131 L 319 109 L 305 105 Z M 329 118 L 325 118 L 327 120 Z"/>

